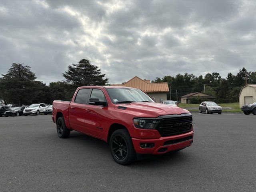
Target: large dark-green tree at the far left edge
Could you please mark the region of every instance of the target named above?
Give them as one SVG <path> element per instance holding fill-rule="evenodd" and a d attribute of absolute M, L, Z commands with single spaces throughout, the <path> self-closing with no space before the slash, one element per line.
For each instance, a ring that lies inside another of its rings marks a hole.
<path fill-rule="evenodd" d="M 0 79 L 0 92 L 2 98 L 10 103 L 27 104 L 34 97 L 37 88 L 36 75 L 29 66 L 13 63 L 6 74 Z"/>

